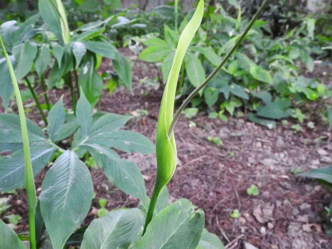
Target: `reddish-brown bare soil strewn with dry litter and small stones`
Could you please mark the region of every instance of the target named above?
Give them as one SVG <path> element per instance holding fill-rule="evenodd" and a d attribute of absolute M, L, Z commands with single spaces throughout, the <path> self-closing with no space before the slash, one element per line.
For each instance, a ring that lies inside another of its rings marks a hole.
<path fill-rule="evenodd" d="M 117 88 L 111 96 L 104 90 L 101 110 L 136 116 L 125 129 L 140 132 L 155 141 L 163 89 L 156 90 L 138 82 L 144 77 L 158 77 L 160 73 L 154 64 L 138 60 L 129 50 L 124 49 L 123 53 L 134 63 L 133 95 L 124 87 Z M 109 61 L 104 60 L 100 70 L 109 69 L 112 69 Z M 64 100 L 69 100 L 69 91 L 52 90 L 51 101 L 54 103 L 63 93 L 68 95 Z M 66 105 L 70 108 L 70 103 Z M 12 108 L 16 110 L 15 106 Z M 148 114 L 138 115 L 138 110 L 147 110 Z M 39 121 L 35 107 L 28 115 Z M 196 126 L 192 127 L 191 122 Z M 303 131 L 298 133 L 294 133 L 291 125 L 289 121 L 286 126 L 279 123 L 278 128 L 268 129 L 232 117 L 222 122 L 207 118 L 206 112 L 200 112 L 193 119 L 181 116 L 175 127 L 179 163 L 168 184 L 170 201 L 188 198 L 202 208 L 206 228 L 216 233 L 228 249 L 332 248 L 332 239 L 324 235 L 324 207 L 331 202 L 331 191 L 292 173 L 331 164 L 332 135 L 326 125 L 316 124 L 314 129 L 303 125 Z M 208 141 L 208 136 L 220 137 L 223 145 Z M 155 155 L 120 154 L 141 169 L 150 195 L 156 175 Z M 46 169 L 36 178 L 38 194 L 45 172 Z M 108 200 L 108 209 L 138 204 L 135 198 L 114 187 L 101 170 L 92 169 L 91 173 L 97 198 L 85 223 L 97 217 L 99 197 Z M 257 196 L 247 194 L 251 184 L 258 186 Z M 10 198 L 12 206 L 2 218 L 10 213 L 20 214 L 23 219 L 17 230 L 26 230 L 25 192 L 18 190 L 17 194 L 0 195 L 3 196 Z M 241 212 L 240 218 L 230 217 L 233 209 Z"/>

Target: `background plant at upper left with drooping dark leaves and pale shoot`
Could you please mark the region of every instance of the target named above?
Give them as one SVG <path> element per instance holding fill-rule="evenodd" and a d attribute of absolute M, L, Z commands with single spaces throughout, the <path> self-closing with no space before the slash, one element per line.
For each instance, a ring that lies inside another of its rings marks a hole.
<path fill-rule="evenodd" d="M 70 31 L 66 13 L 61 1 L 39 1 L 39 12 L 25 22 L 8 21 L 1 24 L 0 31 L 18 80 L 27 84 L 41 117 L 47 125 L 44 110 L 49 111 L 48 90 L 65 85 L 71 92 L 73 111 L 83 90 L 91 105 L 101 95 L 106 72 L 100 76 L 97 69 L 102 57 L 112 59 L 115 77 L 112 89 L 122 82 L 131 91 L 131 67 L 116 47 L 103 36 L 106 24 L 116 17 L 90 22 Z M 41 22 L 43 24 L 39 24 Z M 2 105 L 6 108 L 13 92 L 10 75 L 4 57 L 0 58 Z M 34 90 L 41 85 L 45 105 L 38 100 Z M 111 88 L 111 86 L 110 86 Z"/>

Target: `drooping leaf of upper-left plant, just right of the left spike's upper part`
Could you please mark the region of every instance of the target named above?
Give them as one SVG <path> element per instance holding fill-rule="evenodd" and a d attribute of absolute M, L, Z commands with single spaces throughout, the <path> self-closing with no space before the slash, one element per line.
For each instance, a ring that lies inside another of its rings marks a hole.
<path fill-rule="evenodd" d="M 37 55 L 37 44 L 26 41 L 13 47 L 13 54 L 17 61 L 15 75 L 18 80 L 26 76 L 32 68 Z"/>

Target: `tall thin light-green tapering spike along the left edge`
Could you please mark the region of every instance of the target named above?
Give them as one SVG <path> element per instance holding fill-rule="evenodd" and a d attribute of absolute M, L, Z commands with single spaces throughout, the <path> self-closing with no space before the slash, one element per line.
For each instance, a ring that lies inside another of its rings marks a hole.
<path fill-rule="evenodd" d="M 1 34 L 0 34 L 0 43 L 1 43 L 2 50 L 5 54 L 5 57 L 7 59 L 8 69 L 10 72 L 10 76 L 12 78 L 17 107 L 19 110 L 22 140 L 23 140 L 23 151 L 24 151 L 25 184 L 26 184 L 26 191 L 27 191 L 27 198 L 28 198 L 30 248 L 36 249 L 37 246 L 36 246 L 35 216 L 36 216 L 37 196 L 36 196 L 34 174 L 33 174 L 32 164 L 31 164 L 27 122 L 26 122 L 26 118 L 25 118 L 25 114 L 24 114 L 24 107 L 23 107 L 23 102 L 22 102 L 22 98 L 21 98 L 21 94 L 20 94 L 19 85 L 18 85 L 16 77 L 15 77 L 13 65 L 10 61 L 10 58 L 7 54 L 5 45 L 2 41 Z"/>

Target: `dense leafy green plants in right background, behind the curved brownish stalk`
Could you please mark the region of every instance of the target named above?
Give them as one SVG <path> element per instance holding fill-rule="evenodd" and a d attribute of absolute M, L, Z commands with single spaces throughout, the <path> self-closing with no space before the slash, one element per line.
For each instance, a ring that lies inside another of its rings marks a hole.
<path fill-rule="evenodd" d="M 237 10 L 231 17 L 221 5 L 206 6 L 205 21 L 190 44 L 177 89 L 178 98 L 187 96 L 220 63 L 220 57 L 234 45 L 248 20 L 235 1 L 229 1 Z M 146 48 L 139 58 L 148 62 L 161 62 L 163 80 L 170 71 L 169 61 L 174 58 L 179 34 L 185 27 L 188 13 L 175 29 L 164 27 L 160 37 L 143 37 Z M 303 122 L 301 108 L 315 101 L 326 120 L 324 99 L 332 95 L 331 87 L 316 78 L 301 73 L 312 72 L 316 58 L 329 56 L 331 37 L 315 33 L 316 20 L 307 16 L 289 29 L 284 36 L 273 38 L 266 21 L 257 20 L 245 37 L 243 48 L 235 52 L 207 87 L 193 99 L 192 107 L 204 105 L 210 117 L 226 121 L 226 113 L 253 122 L 275 127 L 275 120 L 287 117 Z M 301 65 L 304 65 L 303 68 Z M 204 103 L 204 104 L 203 104 Z"/>

